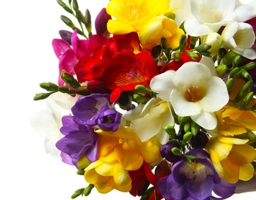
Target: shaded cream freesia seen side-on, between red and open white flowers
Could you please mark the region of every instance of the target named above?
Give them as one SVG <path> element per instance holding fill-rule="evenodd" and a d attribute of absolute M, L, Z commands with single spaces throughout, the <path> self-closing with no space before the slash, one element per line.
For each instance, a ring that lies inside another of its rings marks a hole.
<path fill-rule="evenodd" d="M 142 142 L 156 136 L 162 145 L 168 141 L 164 128 L 174 125 L 168 103 L 160 98 L 151 98 L 147 104 L 136 106 L 123 114 L 123 119 L 130 121 L 130 128 L 134 129 Z"/>

